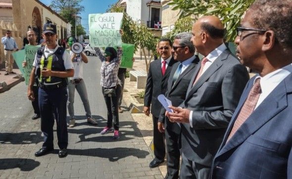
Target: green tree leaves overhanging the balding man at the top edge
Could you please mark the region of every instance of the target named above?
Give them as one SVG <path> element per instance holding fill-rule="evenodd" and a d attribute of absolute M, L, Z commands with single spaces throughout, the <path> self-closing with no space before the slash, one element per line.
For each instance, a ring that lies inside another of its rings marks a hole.
<path fill-rule="evenodd" d="M 227 30 L 226 40 L 234 41 L 236 27 L 243 13 L 254 0 L 172 0 L 173 10 L 180 9 L 180 18 L 191 15 L 216 15 L 222 19 Z"/>

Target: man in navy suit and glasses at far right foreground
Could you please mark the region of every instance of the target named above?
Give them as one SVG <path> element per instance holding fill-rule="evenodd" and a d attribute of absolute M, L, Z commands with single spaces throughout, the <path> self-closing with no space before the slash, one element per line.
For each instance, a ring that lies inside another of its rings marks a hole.
<path fill-rule="evenodd" d="M 212 179 L 292 179 L 292 3 L 257 0 L 237 28 L 247 83 L 212 165 Z"/>

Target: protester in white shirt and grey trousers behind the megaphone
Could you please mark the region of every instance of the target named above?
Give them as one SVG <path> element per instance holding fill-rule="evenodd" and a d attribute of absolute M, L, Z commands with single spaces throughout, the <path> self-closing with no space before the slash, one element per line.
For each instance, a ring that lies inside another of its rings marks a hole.
<path fill-rule="evenodd" d="M 72 51 L 72 44 L 77 42 L 75 37 L 68 37 L 67 44 L 70 49 L 71 61 L 74 65 L 74 76 L 69 77 L 68 84 L 68 112 L 70 115 L 69 127 L 75 126 L 75 116 L 74 116 L 74 95 L 75 89 L 77 90 L 81 101 L 84 106 L 84 110 L 86 112 L 87 122 L 93 125 L 97 125 L 97 121 L 91 115 L 91 109 L 89 105 L 87 90 L 85 86 L 85 82 L 83 79 L 83 63 L 88 63 L 88 59 L 86 55 L 81 52 L 80 54 L 76 54 Z"/>

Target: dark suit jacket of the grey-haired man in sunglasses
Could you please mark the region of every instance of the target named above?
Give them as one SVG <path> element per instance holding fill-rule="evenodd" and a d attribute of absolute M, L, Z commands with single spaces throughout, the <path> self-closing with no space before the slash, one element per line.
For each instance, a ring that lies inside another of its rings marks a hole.
<path fill-rule="evenodd" d="M 166 98 L 168 98 L 172 106 L 178 107 L 180 106 L 186 99 L 187 89 L 190 84 L 191 78 L 195 72 L 195 66 L 198 64 L 199 58 L 195 56 L 193 62 L 189 65 L 184 72 L 182 72 L 177 81 L 173 84 L 173 75 L 176 72 L 180 62 L 177 62 L 173 65 L 169 78 L 168 78 L 168 85 L 166 91 Z M 169 119 L 164 115 L 165 108 L 162 107 L 160 111 L 160 116 L 158 122 L 164 123 L 164 127 L 168 128 L 172 131 L 175 131 L 177 134 L 180 134 L 180 126 L 177 123 L 170 122 Z"/>

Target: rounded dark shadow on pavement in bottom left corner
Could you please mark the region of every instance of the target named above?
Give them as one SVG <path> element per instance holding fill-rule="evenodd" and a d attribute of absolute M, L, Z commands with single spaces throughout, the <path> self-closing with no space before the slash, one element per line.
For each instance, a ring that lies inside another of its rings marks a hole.
<path fill-rule="evenodd" d="M 0 170 L 20 168 L 21 171 L 32 171 L 40 162 L 25 158 L 1 158 Z"/>

